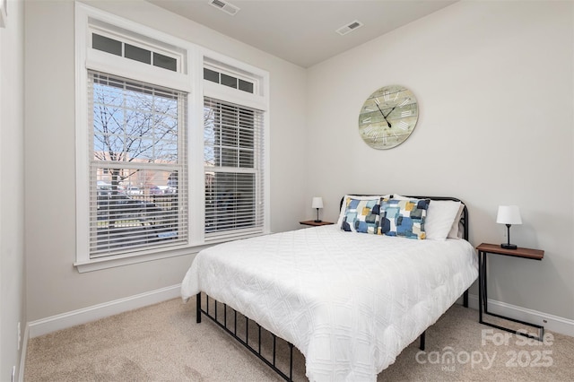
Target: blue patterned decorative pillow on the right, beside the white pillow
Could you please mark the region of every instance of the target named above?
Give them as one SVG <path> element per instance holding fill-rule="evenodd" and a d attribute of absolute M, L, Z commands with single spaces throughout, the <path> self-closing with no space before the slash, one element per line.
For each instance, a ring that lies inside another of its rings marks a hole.
<path fill-rule="evenodd" d="M 424 221 L 430 199 L 380 199 L 379 234 L 426 239 Z"/>

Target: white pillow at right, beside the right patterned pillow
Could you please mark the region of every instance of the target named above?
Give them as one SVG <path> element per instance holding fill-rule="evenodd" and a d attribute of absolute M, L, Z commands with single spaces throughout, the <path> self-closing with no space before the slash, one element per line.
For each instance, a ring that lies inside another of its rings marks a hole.
<path fill-rule="evenodd" d="M 428 240 L 446 240 L 453 227 L 457 227 L 460 220 L 460 202 L 453 200 L 431 200 L 427 218 L 424 221 L 424 230 Z M 458 216 L 458 219 L 457 219 Z M 455 223 L 456 222 L 456 223 Z M 455 233 L 455 238 L 457 238 Z"/>

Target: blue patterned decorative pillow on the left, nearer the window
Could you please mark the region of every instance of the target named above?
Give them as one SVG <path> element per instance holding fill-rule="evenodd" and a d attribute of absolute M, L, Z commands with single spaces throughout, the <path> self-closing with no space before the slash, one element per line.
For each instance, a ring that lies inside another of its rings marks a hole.
<path fill-rule="evenodd" d="M 378 233 L 380 198 L 354 199 L 347 197 L 341 230 L 349 232 Z"/>

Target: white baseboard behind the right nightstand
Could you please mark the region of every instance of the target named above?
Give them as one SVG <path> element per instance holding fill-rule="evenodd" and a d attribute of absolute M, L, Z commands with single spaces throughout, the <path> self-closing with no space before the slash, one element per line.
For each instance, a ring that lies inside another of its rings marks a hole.
<path fill-rule="evenodd" d="M 478 310 L 478 295 L 468 295 L 468 306 Z M 553 316 L 537 310 L 517 307 L 516 305 L 491 299 L 488 299 L 488 310 L 491 313 L 544 326 L 544 330 L 574 337 L 574 320 L 568 318 Z M 476 320 L 478 320 L 478 313 L 476 313 Z"/>

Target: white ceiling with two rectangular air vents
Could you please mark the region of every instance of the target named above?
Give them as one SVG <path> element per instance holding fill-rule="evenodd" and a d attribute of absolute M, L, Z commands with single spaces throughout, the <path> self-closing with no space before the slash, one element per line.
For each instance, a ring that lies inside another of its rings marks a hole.
<path fill-rule="evenodd" d="M 309 67 L 457 0 L 148 0 L 293 64 Z M 335 30 L 354 21 L 360 28 Z"/>

